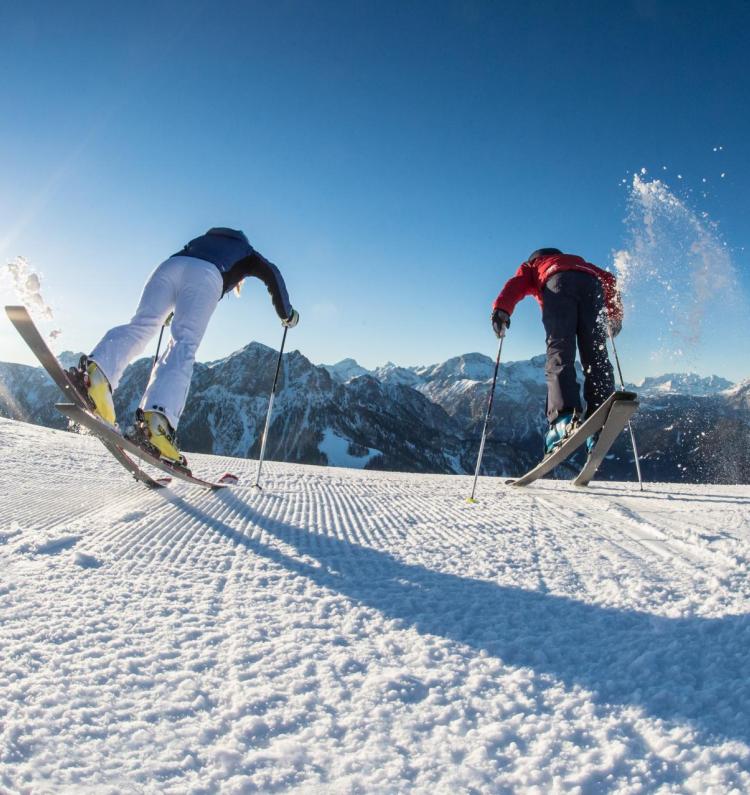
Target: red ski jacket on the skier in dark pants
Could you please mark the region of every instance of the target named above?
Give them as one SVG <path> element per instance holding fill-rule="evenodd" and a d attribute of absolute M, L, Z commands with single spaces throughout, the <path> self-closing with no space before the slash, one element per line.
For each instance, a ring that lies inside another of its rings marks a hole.
<path fill-rule="evenodd" d="M 502 309 L 511 315 L 516 304 L 527 295 L 533 295 L 539 306 L 542 306 L 542 288 L 545 282 L 560 271 L 583 271 L 596 276 L 604 288 L 604 303 L 610 321 L 622 322 L 622 302 L 617 291 L 617 279 L 609 271 L 597 268 L 574 254 L 548 254 L 537 257 L 533 262 L 522 263 L 515 276 L 508 279 L 492 308 Z"/>

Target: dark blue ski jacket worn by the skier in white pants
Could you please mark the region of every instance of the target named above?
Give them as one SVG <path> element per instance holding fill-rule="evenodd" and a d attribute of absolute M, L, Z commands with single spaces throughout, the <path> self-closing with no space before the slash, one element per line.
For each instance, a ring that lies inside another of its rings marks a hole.
<path fill-rule="evenodd" d="M 224 280 L 224 293 L 229 292 L 246 276 L 260 279 L 271 294 L 276 314 L 282 320 L 292 314 L 292 304 L 279 269 L 259 254 L 238 229 L 213 227 L 205 235 L 193 238 L 172 256 L 195 257 L 212 262 Z"/>

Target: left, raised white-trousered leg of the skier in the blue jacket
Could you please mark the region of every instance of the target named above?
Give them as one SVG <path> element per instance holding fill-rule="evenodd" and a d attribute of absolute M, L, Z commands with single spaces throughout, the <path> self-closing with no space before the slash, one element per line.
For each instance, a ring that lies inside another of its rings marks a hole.
<path fill-rule="evenodd" d="M 125 368 L 156 334 L 174 308 L 175 268 L 172 258 L 151 274 L 138 308 L 129 323 L 110 329 L 89 356 L 109 379 L 112 389 L 120 383 Z"/>

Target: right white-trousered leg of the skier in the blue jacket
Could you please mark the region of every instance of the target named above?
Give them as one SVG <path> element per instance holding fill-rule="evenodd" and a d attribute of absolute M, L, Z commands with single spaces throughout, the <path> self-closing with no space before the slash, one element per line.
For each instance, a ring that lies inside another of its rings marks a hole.
<path fill-rule="evenodd" d="M 144 411 L 164 414 L 173 429 L 177 428 L 185 407 L 195 353 L 222 290 L 223 281 L 216 266 L 184 258 L 171 325 L 172 339 L 141 402 Z"/>

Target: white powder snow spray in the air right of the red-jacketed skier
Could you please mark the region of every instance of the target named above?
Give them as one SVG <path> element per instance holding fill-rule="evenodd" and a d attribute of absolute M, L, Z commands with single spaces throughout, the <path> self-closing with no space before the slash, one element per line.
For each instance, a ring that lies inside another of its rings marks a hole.
<path fill-rule="evenodd" d="M 688 206 L 665 182 L 649 180 L 645 174 L 645 169 L 635 174 L 629 186 L 627 247 L 614 253 L 631 337 L 658 368 L 683 370 L 700 359 L 709 366 L 736 362 L 746 355 L 740 353 L 740 341 L 750 333 L 750 313 L 718 225 L 708 213 Z M 687 472 L 689 466 L 693 477 L 707 482 L 718 482 L 717 477 L 736 482 L 737 456 L 722 452 L 724 436 L 735 436 L 736 428 L 722 430 L 714 427 L 716 423 L 709 428 L 705 418 L 700 406 L 683 408 L 673 423 L 684 441 L 682 468 Z M 694 463 L 696 450 L 714 452 Z"/>

